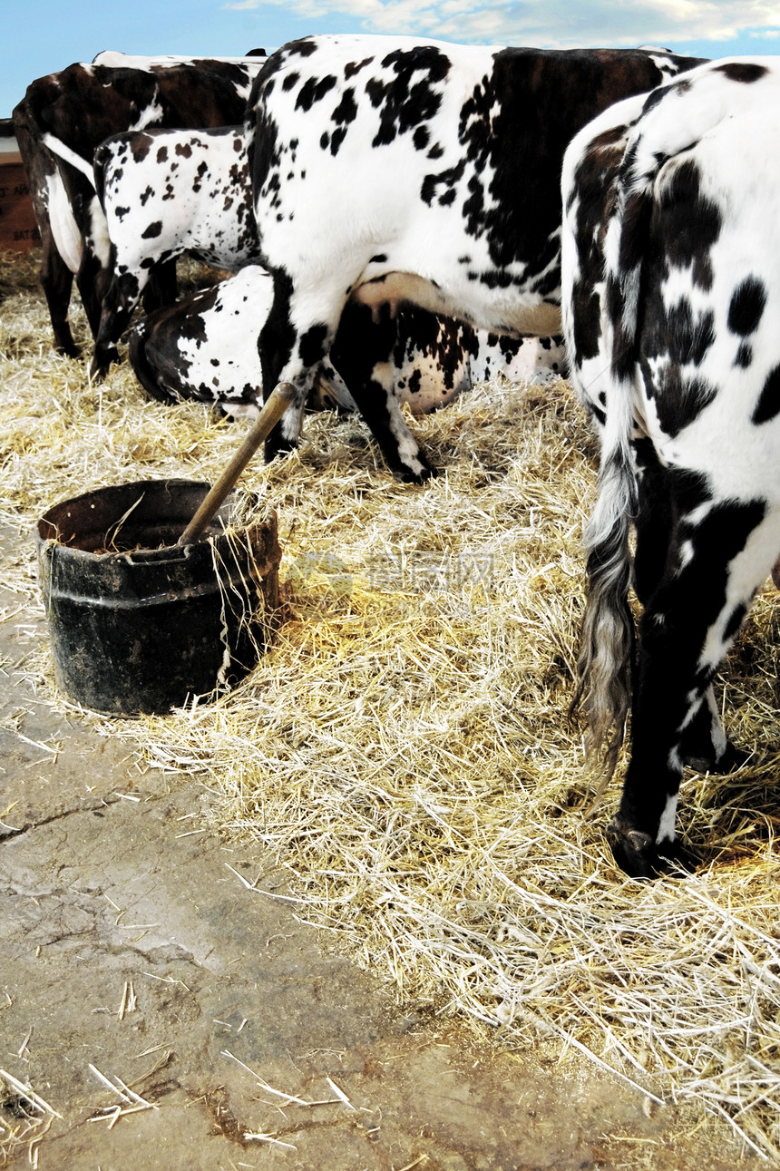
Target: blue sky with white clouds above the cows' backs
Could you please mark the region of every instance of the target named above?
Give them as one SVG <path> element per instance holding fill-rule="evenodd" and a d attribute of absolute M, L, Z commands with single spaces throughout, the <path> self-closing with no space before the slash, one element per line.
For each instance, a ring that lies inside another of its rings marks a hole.
<path fill-rule="evenodd" d="M 0 117 L 30 81 L 101 49 L 241 55 L 307 33 L 409 33 L 481 44 L 665 44 L 780 52 L 780 0 L 27 0 L 7 15 Z"/>

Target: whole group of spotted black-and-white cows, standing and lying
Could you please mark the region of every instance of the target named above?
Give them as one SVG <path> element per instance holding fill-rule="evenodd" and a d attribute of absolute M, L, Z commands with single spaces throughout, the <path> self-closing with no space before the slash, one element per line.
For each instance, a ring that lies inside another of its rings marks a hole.
<path fill-rule="evenodd" d="M 267 459 L 337 405 L 422 482 L 401 403 L 566 354 L 601 438 L 577 701 L 608 768 L 630 714 L 609 836 L 636 877 L 680 857 L 684 767 L 743 759 L 712 679 L 780 550 L 778 114 L 771 57 L 342 35 L 101 54 L 13 114 L 55 347 L 74 276 L 95 377 L 143 301 L 155 397 L 239 416 L 293 383 Z M 184 252 L 233 275 L 177 301 Z"/>

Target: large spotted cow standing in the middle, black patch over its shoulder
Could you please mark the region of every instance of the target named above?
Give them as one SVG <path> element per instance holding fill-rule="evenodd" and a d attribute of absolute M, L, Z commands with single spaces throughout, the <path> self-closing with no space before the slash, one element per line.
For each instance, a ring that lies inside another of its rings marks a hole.
<path fill-rule="evenodd" d="M 661 49 L 341 35 L 273 54 L 247 114 L 262 262 L 275 281 L 260 352 L 264 392 L 285 379 L 299 397 L 266 457 L 296 443 L 350 299 L 410 301 L 501 335 L 559 333 L 567 144 L 607 105 L 696 63 Z M 375 349 L 367 330 L 342 374 L 364 415 L 374 404 L 383 450 L 403 433 L 405 474 L 424 480 L 431 468 Z"/>

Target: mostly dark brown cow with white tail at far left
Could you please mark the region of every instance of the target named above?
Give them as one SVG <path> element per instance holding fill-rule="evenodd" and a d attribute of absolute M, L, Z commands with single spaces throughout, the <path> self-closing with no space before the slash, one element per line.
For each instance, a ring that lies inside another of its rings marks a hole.
<path fill-rule="evenodd" d="M 119 59 L 121 66 L 101 63 Z M 265 59 L 159 63 L 105 53 L 97 60 L 39 77 L 12 115 L 41 233 L 41 283 L 54 345 L 70 356 L 78 352 L 68 323 L 74 275 L 93 336 L 110 279 L 105 220 L 94 186 L 95 149 L 123 130 L 241 122 L 252 80 Z M 169 267 L 162 297 L 170 299 L 173 288 Z"/>

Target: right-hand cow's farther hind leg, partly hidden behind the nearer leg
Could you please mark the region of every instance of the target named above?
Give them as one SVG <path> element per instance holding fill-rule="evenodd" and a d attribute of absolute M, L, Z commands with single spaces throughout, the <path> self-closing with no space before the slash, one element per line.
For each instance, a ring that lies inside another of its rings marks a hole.
<path fill-rule="evenodd" d="M 670 491 L 670 480 L 658 463 L 649 439 L 635 445 L 639 507 L 636 516 L 636 554 L 634 588 L 642 605 L 646 605 L 661 584 L 670 559 L 675 555 L 671 534 L 678 518 Z M 726 738 L 712 686 L 686 725 L 680 740 L 683 765 L 697 772 L 728 773 L 739 768 L 750 753 L 737 748 Z"/>

